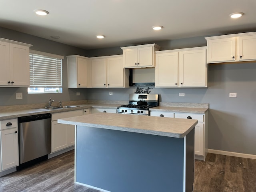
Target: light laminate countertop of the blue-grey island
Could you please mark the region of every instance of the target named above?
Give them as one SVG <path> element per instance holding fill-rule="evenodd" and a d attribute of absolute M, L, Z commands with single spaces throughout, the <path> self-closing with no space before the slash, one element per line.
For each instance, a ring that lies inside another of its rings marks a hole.
<path fill-rule="evenodd" d="M 58 119 L 58 123 L 183 138 L 196 126 L 198 121 L 144 115 L 94 113 Z"/>

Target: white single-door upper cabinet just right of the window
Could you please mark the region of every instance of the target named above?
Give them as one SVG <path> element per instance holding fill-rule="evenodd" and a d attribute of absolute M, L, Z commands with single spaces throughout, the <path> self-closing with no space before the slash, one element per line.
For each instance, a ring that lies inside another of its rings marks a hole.
<path fill-rule="evenodd" d="M 90 87 L 90 68 L 88 58 L 79 55 L 68 58 L 68 88 Z"/>

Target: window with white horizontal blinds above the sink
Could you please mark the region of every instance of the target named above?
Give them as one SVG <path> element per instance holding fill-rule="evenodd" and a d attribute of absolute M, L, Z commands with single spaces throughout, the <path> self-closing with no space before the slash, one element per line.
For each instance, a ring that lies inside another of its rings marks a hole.
<path fill-rule="evenodd" d="M 63 56 L 30 50 L 28 93 L 62 93 Z"/>

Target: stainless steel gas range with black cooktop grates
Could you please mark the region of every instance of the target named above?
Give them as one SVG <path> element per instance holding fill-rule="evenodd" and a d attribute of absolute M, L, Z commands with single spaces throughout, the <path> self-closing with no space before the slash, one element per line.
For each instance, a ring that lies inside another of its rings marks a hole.
<path fill-rule="evenodd" d="M 117 107 L 116 113 L 150 115 L 149 109 L 158 105 L 158 94 L 130 94 L 129 104 Z"/>

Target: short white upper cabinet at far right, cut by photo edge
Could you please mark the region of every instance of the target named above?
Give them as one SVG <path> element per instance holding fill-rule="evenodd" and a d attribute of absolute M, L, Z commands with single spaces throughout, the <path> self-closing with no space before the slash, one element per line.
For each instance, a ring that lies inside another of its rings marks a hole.
<path fill-rule="evenodd" d="M 242 62 L 256 60 L 256 32 L 206 37 L 207 62 Z"/>

